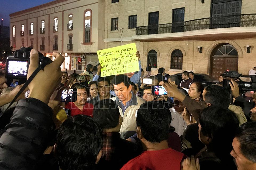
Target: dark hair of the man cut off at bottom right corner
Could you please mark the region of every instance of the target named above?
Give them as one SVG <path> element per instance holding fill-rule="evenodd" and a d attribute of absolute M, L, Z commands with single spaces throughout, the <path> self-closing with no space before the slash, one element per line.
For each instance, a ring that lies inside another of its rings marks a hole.
<path fill-rule="evenodd" d="M 240 151 L 245 158 L 256 163 L 256 122 L 246 122 L 236 131 L 235 137 L 240 143 Z"/>

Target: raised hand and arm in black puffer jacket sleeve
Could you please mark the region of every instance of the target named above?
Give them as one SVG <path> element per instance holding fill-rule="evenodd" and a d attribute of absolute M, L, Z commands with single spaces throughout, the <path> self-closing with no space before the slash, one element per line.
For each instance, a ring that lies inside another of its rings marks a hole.
<path fill-rule="evenodd" d="M 53 53 L 55 60 L 40 70 L 29 84 L 30 96 L 21 99 L 10 123 L 0 138 L 0 169 L 38 169 L 37 163 L 45 151 L 54 129 L 53 110 L 47 106 L 50 96 L 61 80 L 60 66 L 64 57 Z M 27 78 L 38 67 L 38 52 L 30 52 Z"/>

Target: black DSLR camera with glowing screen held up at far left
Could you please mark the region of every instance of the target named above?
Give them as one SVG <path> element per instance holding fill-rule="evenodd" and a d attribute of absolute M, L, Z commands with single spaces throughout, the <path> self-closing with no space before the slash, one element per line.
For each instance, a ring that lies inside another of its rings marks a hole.
<path fill-rule="evenodd" d="M 8 56 L 5 67 L 5 77 L 7 79 L 26 79 L 27 72 L 30 63 L 30 47 L 21 47 L 16 50 L 13 56 Z M 52 61 L 50 58 L 43 56 L 42 53 L 38 52 L 39 55 L 39 66 L 41 69 Z"/>

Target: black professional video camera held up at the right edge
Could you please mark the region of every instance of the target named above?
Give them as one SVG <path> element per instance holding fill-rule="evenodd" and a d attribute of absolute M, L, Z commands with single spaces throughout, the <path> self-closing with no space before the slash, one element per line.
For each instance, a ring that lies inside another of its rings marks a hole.
<path fill-rule="evenodd" d="M 236 78 L 240 81 L 236 81 L 239 87 L 239 90 L 242 92 L 246 91 L 256 91 L 256 76 L 255 75 L 242 75 L 239 74 L 238 71 L 225 71 L 225 77 Z M 251 82 L 244 82 L 240 79 L 240 77 L 251 78 Z M 230 80 L 223 80 L 223 87 L 227 90 L 231 90 L 229 85 Z"/>

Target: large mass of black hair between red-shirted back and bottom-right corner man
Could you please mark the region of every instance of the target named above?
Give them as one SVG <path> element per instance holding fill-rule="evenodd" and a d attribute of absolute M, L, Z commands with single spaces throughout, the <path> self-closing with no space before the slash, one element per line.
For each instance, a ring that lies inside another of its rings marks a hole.
<path fill-rule="evenodd" d="M 202 127 L 201 133 L 212 139 L 207 146 L 208 151 L 214 152 L 221 160 L 226 160 L 224 163 L 234 165 L 230 152 L 233 149 L 235 130 L 239 126 L 235 113 L 213 105 L 203 109 L 199 122 Z"/>

